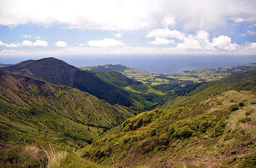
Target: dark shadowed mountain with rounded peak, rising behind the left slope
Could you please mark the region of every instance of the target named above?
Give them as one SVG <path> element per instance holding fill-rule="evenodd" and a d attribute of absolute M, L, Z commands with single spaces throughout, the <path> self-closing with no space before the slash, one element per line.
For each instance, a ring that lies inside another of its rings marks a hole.
<path fill-rule="evenodd" d="M 103 81 L 90 71 L 82 71 L 61 60 L 46 58 L 29 60 L 12 66 L 0 68 L 1 71 L 16 72 L 36 79 L 45 80 L 55 85 L 66 85 L 88 92 L 99 99 L 124 106 L 140 104 L 130 93 Z M 143 106 L 143 104 L 140 106 Z"/>

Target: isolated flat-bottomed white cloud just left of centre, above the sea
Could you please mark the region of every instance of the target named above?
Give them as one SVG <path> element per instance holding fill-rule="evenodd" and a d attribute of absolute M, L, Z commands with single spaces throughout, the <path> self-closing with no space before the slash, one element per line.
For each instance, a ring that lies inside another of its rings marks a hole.
<path fill-rule="evenodd" d="M 124 43 L 120 40 L 104 38 L 103 40 L 90 40 L 88 45 L 92 47 L 110 47 L 124 45 Z"/>

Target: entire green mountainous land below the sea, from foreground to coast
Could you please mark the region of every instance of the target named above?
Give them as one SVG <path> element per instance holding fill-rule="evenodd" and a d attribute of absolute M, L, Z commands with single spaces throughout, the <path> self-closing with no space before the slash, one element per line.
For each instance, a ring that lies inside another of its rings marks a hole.
<path fill-rule="evenodd" d="M 0 167 L 255 167 L 256 64 L 0 68 Z M 51 167 L 51 166 L 50 166 Z"/>

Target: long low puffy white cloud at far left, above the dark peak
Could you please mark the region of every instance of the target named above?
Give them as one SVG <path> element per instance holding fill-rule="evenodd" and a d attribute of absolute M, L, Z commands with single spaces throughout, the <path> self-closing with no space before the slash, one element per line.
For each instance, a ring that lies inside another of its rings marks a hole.
<path fill-rule="evenodd" d="M 32 43 L 29 40 L 24 40 L 22 43 L 14 42 L 10 44 L 5 44 L 6 47 L 24 47 L 24 46 L 48 46 L 48 42 L 45 40 L 36 40 L 36 42 Z"/>

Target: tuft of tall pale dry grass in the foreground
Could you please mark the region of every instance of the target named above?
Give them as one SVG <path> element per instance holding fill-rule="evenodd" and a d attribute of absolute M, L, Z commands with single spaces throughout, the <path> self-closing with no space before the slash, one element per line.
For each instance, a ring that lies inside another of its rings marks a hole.
<path fill-rule="evenodd" d="M 49 146 L 51 148 L 51 151 L 46 151 L 43 147 L 41 147 L 42 149 L 44 149 L 44 151 L 47 154 L 47 158 L 48 158 L 47 167 L 48 168 L 60 167 L 61 162 L 66 160 L 68 152 L 65 151 L 65 150 L 59 151 L 59 152 L 55 152 L 55 150 L 51 147 L 51 145 L 49 145 Z"/>

